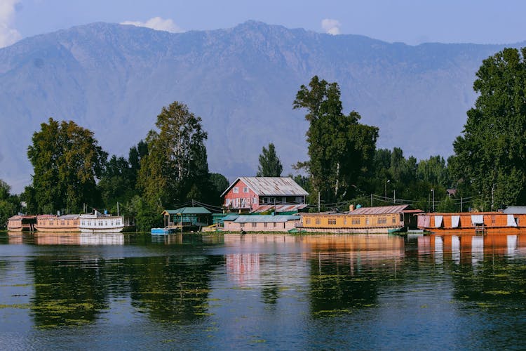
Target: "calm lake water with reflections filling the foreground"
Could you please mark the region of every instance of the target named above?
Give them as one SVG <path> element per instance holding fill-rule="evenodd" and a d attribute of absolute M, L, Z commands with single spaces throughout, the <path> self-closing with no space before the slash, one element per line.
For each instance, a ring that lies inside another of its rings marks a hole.
<path fill-rule="evenodd" d="M 0 233 L 0 348 L 524 350 L 526 235 Z"/>

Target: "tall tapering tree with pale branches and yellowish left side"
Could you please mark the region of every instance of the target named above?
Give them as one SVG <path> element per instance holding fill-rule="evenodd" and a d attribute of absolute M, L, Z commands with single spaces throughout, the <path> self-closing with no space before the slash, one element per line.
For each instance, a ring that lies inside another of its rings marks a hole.
<path fill-rule="evenodd" d="M 137 186 L 149 206 L 174 206 L 191 199 L 210 200 L 210 174 L 201 117 L 173 102 L 157 116 L 159 131 L 149 131 L 148 154 L 140 163 Z"/>

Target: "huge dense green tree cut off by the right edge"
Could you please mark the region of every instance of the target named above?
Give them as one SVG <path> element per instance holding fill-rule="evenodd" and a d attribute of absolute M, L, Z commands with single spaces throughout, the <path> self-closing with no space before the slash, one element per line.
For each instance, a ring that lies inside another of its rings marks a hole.
<path fill-rule="evenodd" d="M 483 60 L 452 170 L 478 207 L 526 203 L 526 48 L 505 48 Z"/>

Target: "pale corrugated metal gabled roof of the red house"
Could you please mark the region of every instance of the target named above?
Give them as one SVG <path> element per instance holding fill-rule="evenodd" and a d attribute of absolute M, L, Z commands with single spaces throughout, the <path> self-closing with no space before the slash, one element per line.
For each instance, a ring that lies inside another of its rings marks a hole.
<path fill-rule="evenodd" d="M 241 180 L 250 190 L 259 196 L 307 196 L 309 195 L 302 187 L 290 177 L 239 177 L 231 183 L 227 190 L 221 194 L 227 194 L 229 190 Z"/>

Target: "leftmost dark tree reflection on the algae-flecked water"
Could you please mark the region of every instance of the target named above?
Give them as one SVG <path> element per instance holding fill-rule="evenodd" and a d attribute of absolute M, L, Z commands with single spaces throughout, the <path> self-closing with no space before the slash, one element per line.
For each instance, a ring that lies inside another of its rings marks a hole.
<path fill-rule="evenodd" d="M 104 261 L 83 262 L 36 259 L 27 265 L 34 272 L 32 312 L 36 326 L 63 326 L 93 322 L 108 307 Z M 93 265 L 93 267 L 89 267 Z"/>

